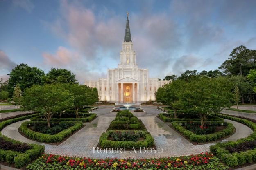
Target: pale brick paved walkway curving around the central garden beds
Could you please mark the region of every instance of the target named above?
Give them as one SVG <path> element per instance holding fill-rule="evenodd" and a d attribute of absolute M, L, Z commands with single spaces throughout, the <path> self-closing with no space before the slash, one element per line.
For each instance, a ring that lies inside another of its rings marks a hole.
<path fill-rule="evenodd" d="M 105 132 L 108 128 L 111 121 L 114 119 L 114 115 L 108 115 L 103 113 L 102 110 L 96 110 L 98 112 L 98 118 L 92 121 L 91 123 L 86 123 L 87 125 L 71 136 L 69 139 L 61 143 L 59 146 L 43 144 L 39 142 L 32 141 L 20 135 L 18 132 L 18 127 L 24 121 L 19 121 L 8 125 L 2 130 L 2 134 L 8 136 L 12 139 L 27 143 L 37 143 L 45 145 L 45 152 L 52 154 L 60 155 L 69 155 L 69 156 L 80 156 L 80 157 L 168 157 L 168 156 L 179 156 L 184 154 L 197 154 L 200 152 L 209 151 L 209 146 L 213 143 L 204 144 L 204 145 L 193 145 L 180 134 L 174 131 L 168 126 L 168 123 L 164 123 L 155 116 L 140 116 L 141 119 L 147 128 L 147 130 L 152 134 L 155 140 L 155 145 L 157 148 L 163 148 L 163 153 L 135 153 L 135 152 L 126 152 L 126 153 L 97 153 L 93 152 L 93 147 L 96 147 L 99 142 L 99 137 L 102 132 Z M 252 133 L 252 130 L 241 123 L 225 120 L 232 122 L 236 127 L 237 131 L 235 134 L 225 139 L 224 141 L 235 141 L 237 139 L 247 137 Z"/>

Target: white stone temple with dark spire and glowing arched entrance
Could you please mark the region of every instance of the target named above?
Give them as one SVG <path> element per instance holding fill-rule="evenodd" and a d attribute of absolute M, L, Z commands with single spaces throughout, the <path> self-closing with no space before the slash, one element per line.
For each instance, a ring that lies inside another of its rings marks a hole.
<path fill-rule="evenodd" d="M 125 38 L 120 51 L 118 68 L 108 69 L 107 78 L 97 81 L 85 81 L 84 85 L 95 87 L 100 101 L 113 103 L 143 103 L 155 100 L 155 92 L 170 81 L 149 78 L 148 69 L 138 68 L 136 52 L 131 41 L 129 18 L 127 13 Z"/>

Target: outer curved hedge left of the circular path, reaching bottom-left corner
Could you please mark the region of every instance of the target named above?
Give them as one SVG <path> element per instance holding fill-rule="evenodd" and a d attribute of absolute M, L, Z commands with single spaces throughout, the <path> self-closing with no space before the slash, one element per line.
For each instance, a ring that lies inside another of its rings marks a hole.
<path fill-rule="evenodd" d="M 14 119 L 9 119 L 6 121 L 0 122 L 0 130 L 5 128 L 5 126 L 10 125 L 11 123 L 15 123 L 18 121 L 22 121 L 25 119 L 29 119 L 32 116 L 37 116 L 39 114 L 32 114 L 27 116 L 21 116 Z M 20 141 L 16 141 L 10 138 L 7 138 L 6 136 L 3 136 L 0 132 L 0 136 L 5 139 L 5 141 L 9 141 L 12 143 L 22 143 Z M 14 152 L 11 150 L 2 150 L 0 149 L 0 161 L 7 162 L 9 164 L 14 163 L 14 166 L 16 168 L 23 167 L 27 165 L 30 161 L 33 161 L 34 159 L 38 158 L 40 154 L 44 152 L 45 147 L 43 145 L 36 145 L 36 144 L 29 144 L 32 148 L 27 150 L 24 153 Z"/>

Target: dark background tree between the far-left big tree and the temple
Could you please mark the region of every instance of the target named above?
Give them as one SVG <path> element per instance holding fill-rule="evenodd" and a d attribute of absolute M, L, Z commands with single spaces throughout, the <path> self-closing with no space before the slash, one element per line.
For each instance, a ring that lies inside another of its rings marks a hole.
<path fill-rule="evenodd" d="M 75 74 L 67 69 L 52 68 L 44 77 L 43 83 L 76 83 Z"/>

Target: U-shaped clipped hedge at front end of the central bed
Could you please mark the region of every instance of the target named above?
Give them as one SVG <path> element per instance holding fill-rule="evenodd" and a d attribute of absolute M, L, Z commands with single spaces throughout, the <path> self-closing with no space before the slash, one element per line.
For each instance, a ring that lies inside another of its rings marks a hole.
<path fill-rule="evenodd" d="M 154 138 L 151 136 L 150 132 L 145 131 L 134 131 L 142 133 L 142 136 L 145 140 L 143 141 L 111 141 L 108 140 L 115 130 L 109 130 L 107 132 L 102 133 L 100 136 L 100 146 L 102 148 L 140 148 L 145 147 L 148 148 L 154 144 Z"/>

